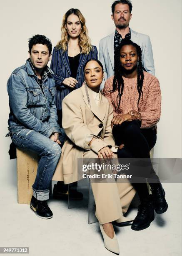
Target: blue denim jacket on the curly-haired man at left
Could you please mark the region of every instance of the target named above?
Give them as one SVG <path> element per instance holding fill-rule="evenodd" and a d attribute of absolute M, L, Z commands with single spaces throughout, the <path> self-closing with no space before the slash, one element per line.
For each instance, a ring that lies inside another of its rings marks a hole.
<path fill-rule="evenodd" d="M 42 88 L 28 60 L 25 65 L 12 72 L 7 81 L 10 105 L 10 132 L 7 137 L 22 128 L 37 131 L 48 138 L 54 132 L 61 133 L 57 124 L 55 81 L 52 70 L 49 71 L 51 74 L 44 77 Z"/>

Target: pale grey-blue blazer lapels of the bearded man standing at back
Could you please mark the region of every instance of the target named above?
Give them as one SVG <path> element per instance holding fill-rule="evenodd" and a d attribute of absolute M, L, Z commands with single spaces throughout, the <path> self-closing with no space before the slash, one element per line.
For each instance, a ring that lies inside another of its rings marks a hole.
<path fill-rule="evenodd" d="M 139 42 L 139 34 L 132 30 L 130 28 L 131 31 L 131 41 L 134 41 L 136 44 L 138 44 Z M 110 57 L 110 61 L 112 64 L 112 68 L 114 70 L 115 67 L 115 59 L 114 59 L 114 38 L 115 38 L 115 32 L 109 35 L 108 38 L 108 52 L 109 52 L 109 57 Z"/>

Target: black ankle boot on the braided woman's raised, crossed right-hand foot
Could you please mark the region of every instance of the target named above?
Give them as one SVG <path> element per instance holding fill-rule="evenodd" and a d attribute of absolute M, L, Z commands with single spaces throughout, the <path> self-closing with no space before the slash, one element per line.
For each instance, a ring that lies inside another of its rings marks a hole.
<path fill-rule="evenodd" d="M 158 183 L 150 183 L 151 191 L 152 191 L 152 199 L 155 212 L 157 214 L 161 214 L 167 211 L 168 205 L 165 200 L 165 191 L 162 188 L 162 184 L 160 180 Z"/>

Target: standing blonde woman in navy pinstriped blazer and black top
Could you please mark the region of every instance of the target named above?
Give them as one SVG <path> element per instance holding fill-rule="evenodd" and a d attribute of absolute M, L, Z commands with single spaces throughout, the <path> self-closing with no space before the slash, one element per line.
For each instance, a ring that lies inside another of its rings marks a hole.
<path fill-rule="evenodd" d="M 87 60 L 97 59 L 97 48 L 92 46 L 88 37 L 85 18 L 78 9 L 71 8 L 62 20 L 61 40 L 54 47 L 50 68 L 55 78 L 55 104 L 58 123 L 62 130 L 60 141 L 63 145 L 65 132 L 62 129 L 62 100 L 70 92 L 78 89 L 84 82 L 83 67 Z M 67 197 L 67 186 L 60 182 L 54 187 L 55 197 Z M 70 198 L 82 199 L 82 193 L 70 190 Z"/>

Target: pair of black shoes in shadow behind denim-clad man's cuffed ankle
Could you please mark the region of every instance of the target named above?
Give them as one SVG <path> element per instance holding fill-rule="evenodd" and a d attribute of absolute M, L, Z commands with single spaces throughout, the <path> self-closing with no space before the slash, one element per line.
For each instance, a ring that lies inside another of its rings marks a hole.
<path fill-rule="evenodd" d="M 53 189 L 53 196 L 54 198 L 57 199 L 66 199 L 68 197 L 68 191 L 67 189 L 63 188 L 58 188 L 57 185 L 54 185 Z M 69 189 L 69 198 L 71 200 L 82 200 L 83 199 L 83 194 L 81 192 L 78 192 L 77 189 Z"/>

